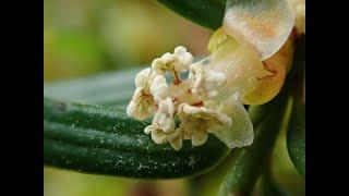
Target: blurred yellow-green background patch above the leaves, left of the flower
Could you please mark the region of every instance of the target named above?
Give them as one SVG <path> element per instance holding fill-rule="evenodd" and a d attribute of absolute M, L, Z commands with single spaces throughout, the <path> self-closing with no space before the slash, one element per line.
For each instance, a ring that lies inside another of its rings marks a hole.
<path fill-rule="evenodd" d="M 45 81 L 145 65 L 183 45 L 206 53 L 210 30 L 153 0 L 45 0 Z"/>

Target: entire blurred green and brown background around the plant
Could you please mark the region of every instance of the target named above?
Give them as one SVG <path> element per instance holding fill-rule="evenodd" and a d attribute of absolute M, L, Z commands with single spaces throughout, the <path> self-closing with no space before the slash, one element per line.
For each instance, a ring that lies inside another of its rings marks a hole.
<path fill-rule="evenodd" d="M 156 57 L 185 46 L 194 57 L 207 53 L 210 30 L 153 0 L 45 0 L 44 79 L 52 82 L 147 65 Z M 303 179 L 290 163 L 285 133 L 275 150 L 275 174 L 293 195 L 304 194 Z M 194 179 L 141 181 L 91 175 L 44 167 L 46 196 L 215 195 L 227 168 Z"/>

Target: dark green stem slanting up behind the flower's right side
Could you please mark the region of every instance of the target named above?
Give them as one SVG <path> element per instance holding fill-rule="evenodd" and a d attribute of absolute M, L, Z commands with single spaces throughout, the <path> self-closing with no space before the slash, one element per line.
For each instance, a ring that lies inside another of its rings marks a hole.
<path fill-rule="evenodd" d="M 243 148 L 231 164 L 219 188 L 219 195 L 249 195 L 265 167 L 266 158 L 273 150 L 277 135 L 284 123 L 288 123 L 286 111 L 289 108 L 290 96 L 299 90 L 299 77 L 304 69 L 305 38 L 297 40 L 292 70 L 287 76 L 279 95 L 263 106 L 250 107 L 249 114 L 255 128 L 254 142 Z"/>

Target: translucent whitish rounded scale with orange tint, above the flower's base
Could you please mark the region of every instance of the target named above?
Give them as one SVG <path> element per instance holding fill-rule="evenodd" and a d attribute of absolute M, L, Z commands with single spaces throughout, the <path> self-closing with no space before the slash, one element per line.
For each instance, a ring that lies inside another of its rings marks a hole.
<path fill-rule="evenodd" d="M 264 61 L 281 48 L 293 25 L 293 9 L 286 0 L 228 0 L 222 26 Z"/>

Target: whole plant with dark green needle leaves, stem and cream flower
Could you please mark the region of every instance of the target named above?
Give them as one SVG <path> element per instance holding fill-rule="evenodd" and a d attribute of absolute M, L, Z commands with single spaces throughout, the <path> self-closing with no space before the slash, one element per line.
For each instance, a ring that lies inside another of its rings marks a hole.
<path fill-rule="evenodd" d="M 157 1 L 210 28 L 210 54 L 178 46 L 144 70 L 45 84 L 45 164 L 165 180 L 233 155 L 217 194 L 249 195 L 262 176 L 261 193 L 281 195 L 269 168 L 286 126 L 305 177 L 304 0 Z"/>

